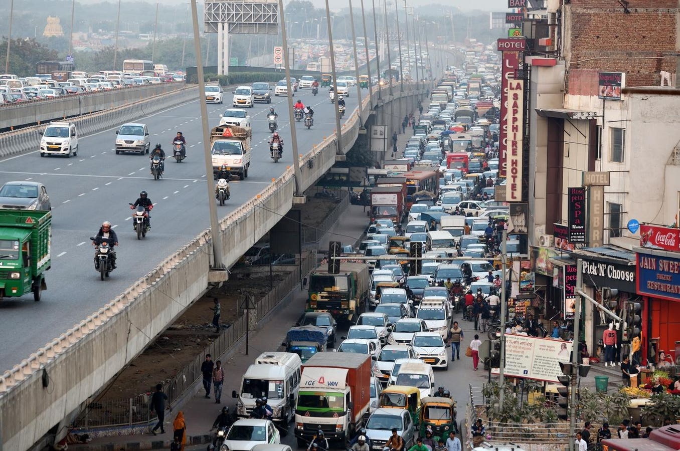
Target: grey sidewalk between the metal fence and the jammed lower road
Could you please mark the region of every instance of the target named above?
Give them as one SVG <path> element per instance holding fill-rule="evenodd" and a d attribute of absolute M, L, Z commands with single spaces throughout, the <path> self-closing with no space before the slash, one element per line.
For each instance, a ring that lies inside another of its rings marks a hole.
<path fill-rule="evenodd" d="M 320 242 L 320 249 L 328 249 L 330 240 L 339 240 L 354 245 L 366 229 L 368 219 L 362 211 L 363 207 L 350 205 L 345 214 L 333 225 L 328 234 Z M 335 232 L 335 233 L 334 233 Z M 307 292 L 296 288 L 276 307 L 264 321 L 251 331 L 248 343 L 248 355 L 245 354 L 245 340 L 227 355 L 213 356 L 213 360 L 222 360 L 226 378 L 222 386 L 222 404 L 216 404 L 214 398 L 205 399 L 203 384 L 199 380 L 188 398 L 181 405 L 173 405 L 172 411 L 165 413 L 165 434 L 158 436 L 150 433 L 138 435 L 121 435 L 116 437 L 95 438 L 86 445 L 71 445 L 69 449 L 89 451 L 120 450 L 158 450 L 169 449 L 172 440 L 172 422 L 177 412 L 182 410 L 186 420 L 187 446 L 212 442 L 209 429 L 224 405 L 234 412 L 235 401 L 231 391 L 239 389 L 241 375 L 245 373 L 254 359 L 265 351 L 278 350 L 286 338 L 286 331 L 299 319 L 304 309 Z"/>

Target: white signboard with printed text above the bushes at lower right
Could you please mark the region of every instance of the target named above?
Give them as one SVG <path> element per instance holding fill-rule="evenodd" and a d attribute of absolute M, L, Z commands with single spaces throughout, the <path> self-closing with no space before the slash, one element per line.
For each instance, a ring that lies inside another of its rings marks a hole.
<path fill-rule="evenodd" d="M 573 344 L 562 340 L 505 334 L 505 376 L 559 383 L 560 362 L 568 362 Z"/>

